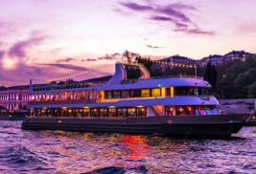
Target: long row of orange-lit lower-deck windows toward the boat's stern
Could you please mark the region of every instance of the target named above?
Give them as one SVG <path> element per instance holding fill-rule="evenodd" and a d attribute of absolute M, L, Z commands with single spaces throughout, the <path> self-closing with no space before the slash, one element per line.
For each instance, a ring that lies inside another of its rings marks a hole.
<path fill-rule="evenodd" d="M 147 108 L 35 109 L 36 117 L 145 117 Z"/>

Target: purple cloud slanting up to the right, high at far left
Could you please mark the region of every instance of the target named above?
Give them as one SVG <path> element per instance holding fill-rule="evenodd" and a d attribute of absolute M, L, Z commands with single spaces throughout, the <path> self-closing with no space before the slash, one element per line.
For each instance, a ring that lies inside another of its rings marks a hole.
<path fill-rule="evenodd" d="M 19 41 L 19 42 L 15 43 L 14 45 L 12 45 L 12 47 L 8 51 L 8 55 L 10 57 L 17 56 L 20 58 L 24 58 L 27 56 L 25 49 L 30 46 L 38 44 L 43 39 L 44 39 L 44 37 L 41 36 L 41 37 L 31 38 L 26 41 Z"/>

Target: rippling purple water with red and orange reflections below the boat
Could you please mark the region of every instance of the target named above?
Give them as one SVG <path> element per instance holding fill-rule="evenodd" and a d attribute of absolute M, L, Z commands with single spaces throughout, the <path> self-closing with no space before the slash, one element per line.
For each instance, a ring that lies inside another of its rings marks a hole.
<path fill-rule="evenodd" d="M 0 121 L 0 173 L 256 173 L 256 127 L 222 140 L 20 127 Z"/>

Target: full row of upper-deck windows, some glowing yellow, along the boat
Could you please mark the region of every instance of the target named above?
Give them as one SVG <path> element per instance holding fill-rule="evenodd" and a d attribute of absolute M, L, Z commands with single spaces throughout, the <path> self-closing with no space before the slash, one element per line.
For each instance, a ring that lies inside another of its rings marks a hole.
<path fill-rule="evenodd" d="M 162 94 L 163 93 L 163 94 Z M 210 95 L 207 88 L 170 87 L 111 91 L 75 91 L 29 95 L 29 101 L 97 99 L 97 98 L 147 98 L 160 96 Z"/>

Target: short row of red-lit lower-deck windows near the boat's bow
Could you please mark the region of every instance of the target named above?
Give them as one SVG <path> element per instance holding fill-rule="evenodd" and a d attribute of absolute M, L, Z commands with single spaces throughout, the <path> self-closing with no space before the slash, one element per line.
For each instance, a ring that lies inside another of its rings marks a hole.
<path fill-rule="evenodd" d="M 200 116 L 200 115 L 219 115 L 215 106 L 173 106 L 165 107 L 166 116 Z"/>

